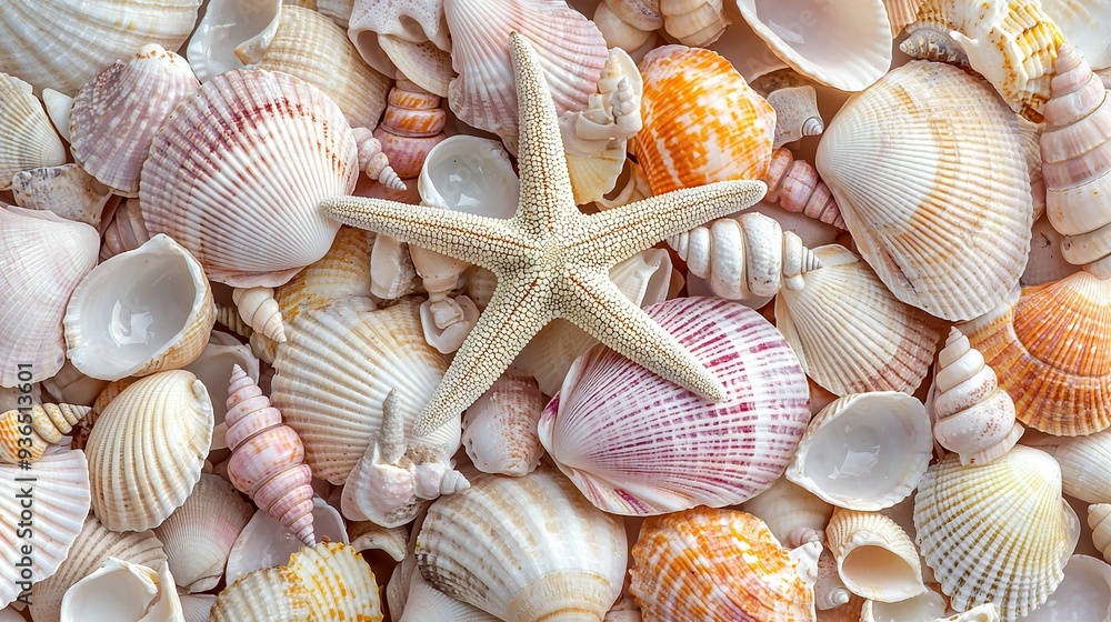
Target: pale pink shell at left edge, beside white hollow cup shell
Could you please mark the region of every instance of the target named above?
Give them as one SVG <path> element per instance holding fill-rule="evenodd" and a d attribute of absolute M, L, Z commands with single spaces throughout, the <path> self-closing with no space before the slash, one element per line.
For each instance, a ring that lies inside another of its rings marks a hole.
<path fill-rule="evenodd" d="M 0 387 L 40 382 L 62 368 L 66 303 L 97 265 L 97 230 L 51 212 L 0 203 L 0 349 L 10 361 Z M 19 378 L 19 371 L 30 372 Z"/>

